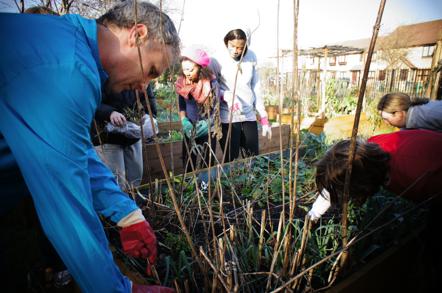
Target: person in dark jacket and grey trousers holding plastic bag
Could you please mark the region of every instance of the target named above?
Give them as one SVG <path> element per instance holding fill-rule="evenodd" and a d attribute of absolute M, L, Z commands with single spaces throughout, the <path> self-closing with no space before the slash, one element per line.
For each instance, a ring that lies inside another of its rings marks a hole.
<path fill-rule="evenodd" d="M 124 182 L 127 181 L 127 188 L 139 186 L 143 176 L 143 156 L 141 150 L 141 140 L 139 138 L 129 138 L 120 133 L 104 132 L 103 128 L 107 122 L 114 126 L 123 126 L 126 118 L 123 115 L 124 109 L 138 111 L 137 90 L 122 91 L 113 94 L 102 88 L 102 99 L 98 109 L 95 112 L 95 123 L 91 124 L 91 140 L 100 160 L 107 164 L 107 167 L 114 173 L 118 186 L 121 190 L 125 189 Z M 156 103 L 152 88 L 149 84 L 146 94 L 149 99 L 150 109 L 154 118 L 156 117 Z M 145 94 L 138 92 L 140 102 L 146 109 Z M 145 110 L 148 114 L 148 110 Z M 97 135 L 97 128 L 100 137 Z M 103 147 L 100 145 L 103 144 Z M 104 150 L 104 156 L 103 156 Z M 105 159 L 106 157 L 106 159 Z"/>

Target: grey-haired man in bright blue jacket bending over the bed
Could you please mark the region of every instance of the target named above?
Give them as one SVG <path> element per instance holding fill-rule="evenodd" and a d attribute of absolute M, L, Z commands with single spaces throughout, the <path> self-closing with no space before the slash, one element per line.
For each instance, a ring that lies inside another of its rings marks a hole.
<path fill-rule="evenodd" d="M 137 1 L 146 84 L 179 55 L 178 34 L 163 13 L 166 57 L 160 13 Z M 89 136 L 103 84 L 114 93 L 143 91 L 133 2 L 96 21 L 4 13 L 0 24 L 0 214 L 29 189 L 46 236 L 83 292 L 147 292 L 119 272 L 97 213 L 123 227 L 128 255 L 151 263 L 155 235 Z"/>

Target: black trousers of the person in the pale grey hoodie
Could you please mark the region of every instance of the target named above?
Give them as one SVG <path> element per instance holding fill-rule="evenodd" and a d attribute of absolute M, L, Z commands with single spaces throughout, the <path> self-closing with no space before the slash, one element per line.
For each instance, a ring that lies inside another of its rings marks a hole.
<path fill-rule="evenodd" d="M 222 138 L 220 139 L 221 149 L 224 148 L 227 140 L 227 133 L 229 132 L 229 123 L 221 123 Z M 240 155 L 245 157 L 259 155 L 258 142 L 258 124 L 256 121 L 232 122 L 232 130 L 230 132 L 229 145 L 227 145 L 227 154 L 224 163 L 232 162 L 238 159 Z M 230 148 L 230 152 L 229 152 Z"/>

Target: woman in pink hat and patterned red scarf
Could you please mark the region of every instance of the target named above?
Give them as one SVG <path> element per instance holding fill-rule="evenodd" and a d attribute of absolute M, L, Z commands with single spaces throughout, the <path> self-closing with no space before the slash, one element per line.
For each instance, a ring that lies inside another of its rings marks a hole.
<path fill-rule="evenodd" d="M 213 108 L 217 103 L 219 85 L 210 68 L 210 59 L 206 52 L 198 47 L 186 47 L 181 51 L 182 75 L 176 80 L 175 88 L 178 95 L 179 117 L 183 124 L 183 167 L 185 173 L 191 172 L 191 164 L 187 163 L 187 148 L 184 140 L 187 142 L 189 151 L 191 151 L 192 164 L 196 170 L 196 159 L 198 152 L 201 152 L 199 167 L 201 169 L 212 167 L 215 159 L 217 139 L 213 136 Z M 204 121 L 204 119 L 206 121 Z M 207 121 L 209 120 L 209 121 Z M 209 123 L 211 125 L 209 132 Z M 195 141 L 191 144 L 192 132 L 195 134 Z M 213 150 L 212 160 L 208 146 L 209 141 Z M 196 151 L 198 148 L 198 152 Z M 194 151 L 192 151 L 192 149 Z M 204 164 L 202 163 L 204 162 Z M 186 168 L 187 165 L 187 168 Z"/>

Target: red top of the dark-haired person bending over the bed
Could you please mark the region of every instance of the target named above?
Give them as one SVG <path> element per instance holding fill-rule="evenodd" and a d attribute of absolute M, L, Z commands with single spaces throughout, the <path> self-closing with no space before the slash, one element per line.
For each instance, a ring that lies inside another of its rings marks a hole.
<path fill-rule="evenodd" d="M 390 153 L 390 183 L 382 184 L 385 189 L 401 194 L 427 171 L 431 171 L 403 197 L 413 202 L 423 202 L 442 191 L 442 133 L 405 130 L 370 137 L 367 142 L 377 143 Z M 442 203 L 442 196 L 431 202 Z"/>

